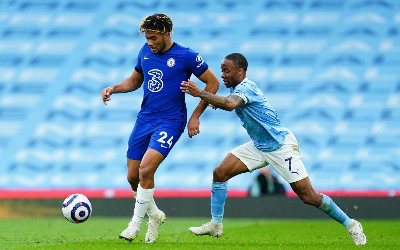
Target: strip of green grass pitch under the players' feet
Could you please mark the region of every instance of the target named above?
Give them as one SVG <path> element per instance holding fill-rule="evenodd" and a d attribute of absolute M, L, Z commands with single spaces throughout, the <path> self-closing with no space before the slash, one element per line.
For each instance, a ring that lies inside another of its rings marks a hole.
<path fill-rule="evenodd" d="M 0 249 L 398 249 L 400 220 L 360 220 L 368 238 L 355 246 L 333 220 L 224 219 L 224 235 L 195 236 L 188 227 L 209 218 L 168 218 L 153 244 L 144 243 L 146 221 L 138 237 L 118 238 L 129 218 L 91 217 L 82 224 L 64 218 L 0 220 Z"/>

